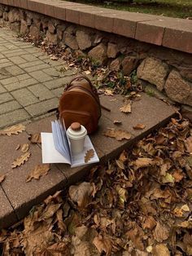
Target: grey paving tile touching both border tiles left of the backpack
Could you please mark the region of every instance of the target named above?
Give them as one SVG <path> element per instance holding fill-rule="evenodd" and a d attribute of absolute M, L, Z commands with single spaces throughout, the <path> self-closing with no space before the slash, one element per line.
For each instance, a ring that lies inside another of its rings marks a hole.
<path fill-rule="evenodd" d="M 26 107 L 31 104 L 39 102 L 39 99 L 27 88 L 14 90 L 11 95 L 23 106 Z"/>

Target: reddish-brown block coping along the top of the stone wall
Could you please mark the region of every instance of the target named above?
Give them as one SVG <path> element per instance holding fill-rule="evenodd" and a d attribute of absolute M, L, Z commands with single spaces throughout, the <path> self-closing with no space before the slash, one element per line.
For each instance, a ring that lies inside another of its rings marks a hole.
<path fill-rule="evenodd" d="M 0 3 L 141 42 L 192 53 L 192 20 L 116 11 L 61 0 L 0 0 Z"/>

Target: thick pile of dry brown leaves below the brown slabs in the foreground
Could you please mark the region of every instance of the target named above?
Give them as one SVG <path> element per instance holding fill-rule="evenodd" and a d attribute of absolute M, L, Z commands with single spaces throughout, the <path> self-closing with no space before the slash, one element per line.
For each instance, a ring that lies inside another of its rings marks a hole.
<path fill-rule="evenodd" d="M 2 230 L 3 255 L 192 255 L 192 130 L 172 119 Z"/>

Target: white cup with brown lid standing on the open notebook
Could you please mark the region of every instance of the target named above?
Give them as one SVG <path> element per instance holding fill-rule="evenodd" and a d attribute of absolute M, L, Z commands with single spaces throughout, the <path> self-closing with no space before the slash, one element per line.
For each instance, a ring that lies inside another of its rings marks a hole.
<path fill-rule="evenodd" d="M 72 153 L 77 154 L 82 152 L 87 135 L 85 127 L 81 126 L 79 122 L 73 122 L 72 125 L 68 127 L 67 135 L 71 143 Z"/>

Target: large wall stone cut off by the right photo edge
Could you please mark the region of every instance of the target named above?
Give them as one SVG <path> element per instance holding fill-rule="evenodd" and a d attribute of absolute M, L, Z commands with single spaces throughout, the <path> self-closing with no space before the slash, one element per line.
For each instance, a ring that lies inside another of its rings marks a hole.
<path fill-rule="evenodd" d="M 176 70 L 172 70 L 164 86 L 170 99 L 192 106 L 192 83 L 186 82 Z"/>

